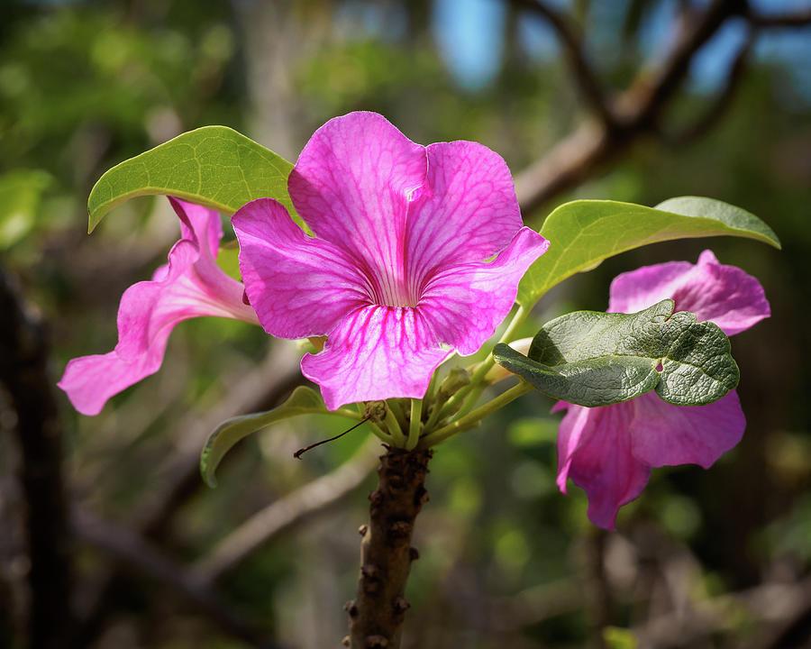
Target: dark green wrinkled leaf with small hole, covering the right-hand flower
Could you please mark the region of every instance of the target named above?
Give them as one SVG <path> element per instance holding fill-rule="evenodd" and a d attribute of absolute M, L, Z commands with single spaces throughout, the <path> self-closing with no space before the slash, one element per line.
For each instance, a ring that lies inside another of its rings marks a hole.
<path fill-rule="evenodd" d="M 729 339 L 716 324 L 662 300 L 635 314 L 576 311 L 544 324 L 529 357 L 498 344 L 498 364 L 551 398 L 597 407 L 655 389 L 676 406 L 702 406 L 738 384 Z"/>

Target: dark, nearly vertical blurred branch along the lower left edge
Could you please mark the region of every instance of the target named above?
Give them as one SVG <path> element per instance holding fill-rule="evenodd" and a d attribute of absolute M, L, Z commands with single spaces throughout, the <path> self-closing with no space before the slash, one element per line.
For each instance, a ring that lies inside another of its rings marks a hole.
<path fill-rule="evenodd" d="M 0 381 L 17 416 L 31 568 L 28 645 L 57 649 L 71 633 L 71 562 L 59 409 L 44 324 L 0 270 Z"/>

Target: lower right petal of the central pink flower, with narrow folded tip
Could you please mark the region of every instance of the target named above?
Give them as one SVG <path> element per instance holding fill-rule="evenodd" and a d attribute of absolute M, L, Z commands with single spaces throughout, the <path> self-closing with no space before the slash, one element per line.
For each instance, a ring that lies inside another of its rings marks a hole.
<path fill-rule="evenodd" d="M 438 270 L 425 285 L 419 310 L 442 343 L 460 354 L 478 352 L 510 312 L 518 282 L 547 248 L 540 234 L 521 228 L 494 261 Z"/>

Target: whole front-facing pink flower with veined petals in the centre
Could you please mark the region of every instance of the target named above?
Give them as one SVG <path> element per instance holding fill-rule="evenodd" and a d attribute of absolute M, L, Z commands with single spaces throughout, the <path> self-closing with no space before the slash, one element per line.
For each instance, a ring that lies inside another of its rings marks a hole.
<path fill-rule="evenodd" d="M 288 189 L 315 236 L 278 202 L 253 201 L 232 221 L 240 268 L 269 334 L 328 337 L 301 369 L 331 409 L 423 397 L 454 350 L 477 352 L 495 332 L 548 247 L 522 227 L 500 156 L 475 142 L 423 147 L 374 113 L 318 129 Z"/>

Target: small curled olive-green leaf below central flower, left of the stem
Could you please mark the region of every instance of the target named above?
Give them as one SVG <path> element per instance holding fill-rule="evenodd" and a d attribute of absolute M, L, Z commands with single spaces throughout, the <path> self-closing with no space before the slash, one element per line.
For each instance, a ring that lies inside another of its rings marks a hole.
<path fill-rule="evenodd" d="M 251 433 L 294 416 L 328 414 L 330 411 L 323 405 L 321 396 L 312 388 L 300 386 L 293 390 L 287 401 L 272 410 L 226 419 L 208 436 L 200 454 L 200 472 L 203 474 L 203 480 L 209 487 L 216 487 L 214 471 L 223 461 L 225 453 Z"/>

